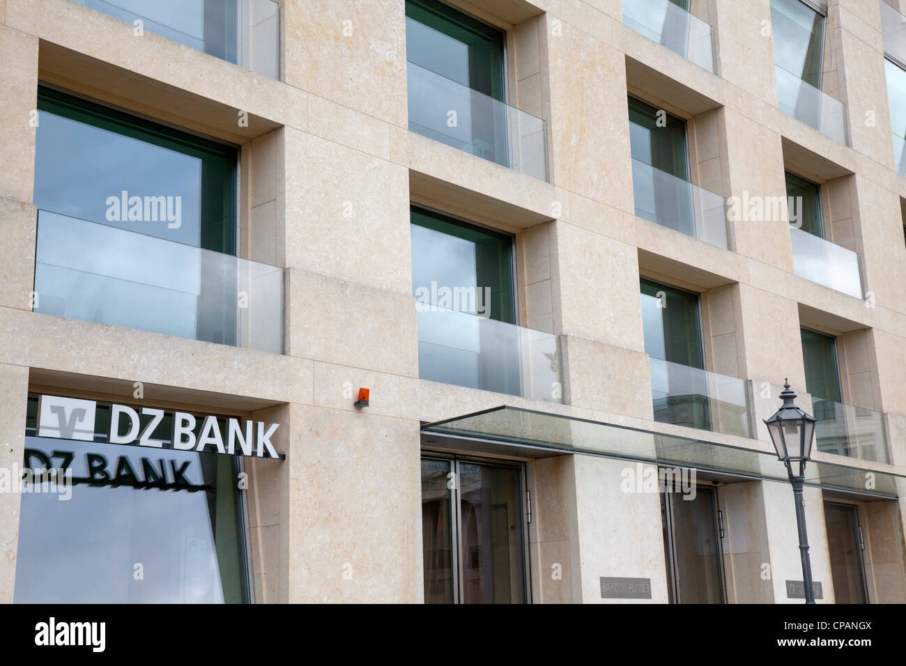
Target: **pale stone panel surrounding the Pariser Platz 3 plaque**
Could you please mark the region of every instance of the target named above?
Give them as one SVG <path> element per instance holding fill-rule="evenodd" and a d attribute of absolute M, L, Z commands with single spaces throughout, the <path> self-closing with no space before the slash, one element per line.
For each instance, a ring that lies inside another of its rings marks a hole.
<path fill-rule="evenodd" d="M 660 496 L 624 485 L 639 469 L 657 468 L 592 456 L 575 456 L 574 467 L 582 602 L 667 603 Z M 601 576 L 651 578 L 651 600 L 602 599 Z"/>

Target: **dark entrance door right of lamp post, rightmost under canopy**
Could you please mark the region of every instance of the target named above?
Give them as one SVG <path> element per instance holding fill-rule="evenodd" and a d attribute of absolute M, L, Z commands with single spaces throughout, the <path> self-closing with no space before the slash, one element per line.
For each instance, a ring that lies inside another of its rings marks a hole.
<path fill-rule="evenodd" d="M 868 603 L 859 513 L 853 504 L 824 502 L 827 548 L 836 603 Z"/>

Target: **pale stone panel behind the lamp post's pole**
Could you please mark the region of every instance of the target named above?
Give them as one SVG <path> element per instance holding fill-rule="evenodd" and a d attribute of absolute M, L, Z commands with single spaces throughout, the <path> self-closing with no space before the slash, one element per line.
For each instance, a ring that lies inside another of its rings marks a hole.
<path fill-rule="evenodd" d="M 786 597 L 786 581 L 802 580 L 802 560 L 799 556 L 799 535 L 795 521 L 793 488 L 788 483 L 761 481 L 765 503 L 767 542 L 770 545 L 771 579 L 775 603 L 802 603 L 801 599 Z M 812 579 L 820 582 L 824 599 L 817 603 L 834 603 L 834 580 L 827 550 L 827 529 L 824 525 L 824 503 L 819 488 L 805 487 L 805 529 L 808 533 Z"/>

